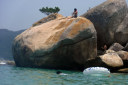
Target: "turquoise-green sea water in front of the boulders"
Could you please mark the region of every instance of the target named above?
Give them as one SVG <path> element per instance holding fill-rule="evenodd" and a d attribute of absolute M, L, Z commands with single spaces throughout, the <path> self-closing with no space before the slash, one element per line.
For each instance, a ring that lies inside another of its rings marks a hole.
<path fill-rule="evenodd" d="M 56 71 L 1 64 L 0 85 L 128 85 L 128 74 L 87 76 L 82 72 L 60 70 L 68 75 L 58 75 Z"/>

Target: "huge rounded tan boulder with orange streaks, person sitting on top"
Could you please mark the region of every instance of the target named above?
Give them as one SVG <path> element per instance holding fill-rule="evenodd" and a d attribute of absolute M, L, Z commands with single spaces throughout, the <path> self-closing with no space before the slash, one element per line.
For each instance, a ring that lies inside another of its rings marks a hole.
<path fill-rule="evenodd" d="M 80 70 L 97 56 L 96 30 L 86 18 L 59 18 L 27 29 L 12 49 L 17 66 Z"/>

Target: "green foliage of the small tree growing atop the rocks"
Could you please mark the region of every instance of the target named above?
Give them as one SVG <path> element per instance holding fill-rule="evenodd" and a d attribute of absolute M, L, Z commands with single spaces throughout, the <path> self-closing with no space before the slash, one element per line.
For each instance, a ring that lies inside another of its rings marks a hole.
<path fill-rule="evenodd" d="M 60 8 L 59 7 L 55 7 L 55 8 L 43 7 L 41 9 L 39 9 L 39 11 L 46 14 L 46 15 L 49 15 L 51 13 L 58 13 L 60 11 Z"/>

